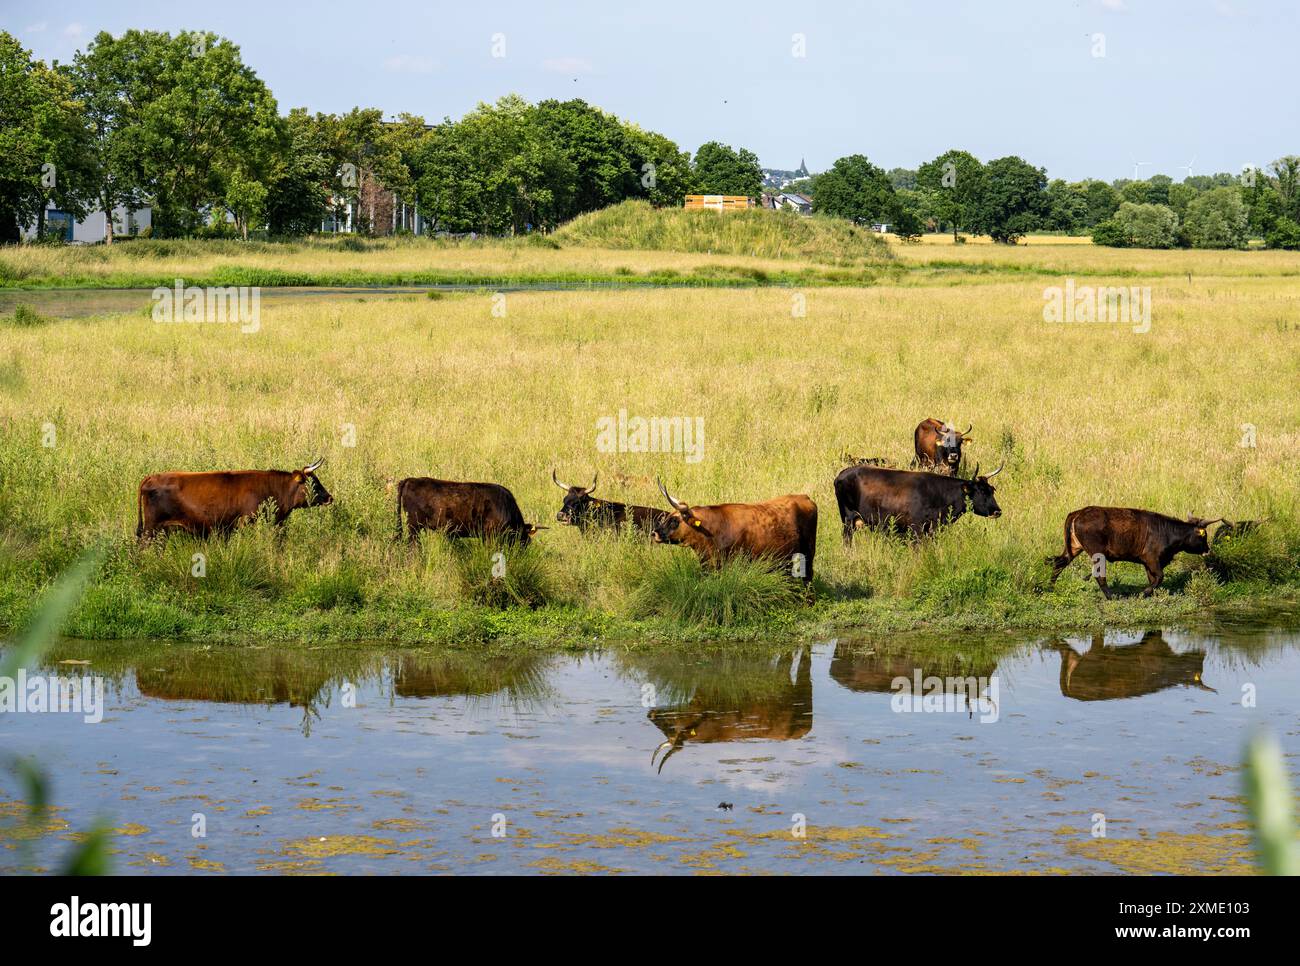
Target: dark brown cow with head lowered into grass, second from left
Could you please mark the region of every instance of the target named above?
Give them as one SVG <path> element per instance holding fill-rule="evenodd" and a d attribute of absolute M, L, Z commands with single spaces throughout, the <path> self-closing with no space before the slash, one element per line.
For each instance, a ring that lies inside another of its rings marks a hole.
<path fill-rule="evenodd" d="M 398 484 L 398 540 L 420 530 L 448 537 L 506 537 L 526 545 L 537 530 L 524 521 L 515 495 L 498 484 L 411 476 Z"/>

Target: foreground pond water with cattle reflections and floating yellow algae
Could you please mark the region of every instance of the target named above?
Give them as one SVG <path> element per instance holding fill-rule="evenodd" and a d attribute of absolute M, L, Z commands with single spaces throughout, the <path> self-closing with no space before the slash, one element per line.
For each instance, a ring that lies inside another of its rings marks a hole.
<path fill-rule="evenodd" d="M 1245 737 L 1300 771 L 1300 632 L 1277 627 L 46 662 L 103 679 L 103 719 L 0 714 L 56 806 L 23 831 L 0 768 L 4 872 L 96 819 L 129 874 L 1239 872 Z M 916 675 L 928 702 L 892 689 Z"/>

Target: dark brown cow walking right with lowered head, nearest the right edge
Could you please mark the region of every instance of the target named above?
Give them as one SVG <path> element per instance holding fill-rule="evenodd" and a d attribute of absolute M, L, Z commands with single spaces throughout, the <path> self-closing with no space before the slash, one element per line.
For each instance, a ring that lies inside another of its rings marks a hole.
<path fill-rule="evenodd" d="M 1140 563 L 1147 568 L 1147 589 L 1143 594 L 1156 593 L 1165 568 L 1176 554 L 1206 554 L 1210 543 L 1208 530 L 1218 520 L 1202 520 L 1188 516 L 1178 520 L 1173 516 L 1156 514 L 1150 510 L 1130 507 L 1084 507 L 1065 517 L 1065 550 L 1052 558 L 1052 582 L 1061 571 L 1080 553 L 1096 562 L 1100 554 L 1106 563 L 1124 560 Z M 1108 598 L 1105 567 L 1091 571 L 1097 577 L 1097 586 Z"/>

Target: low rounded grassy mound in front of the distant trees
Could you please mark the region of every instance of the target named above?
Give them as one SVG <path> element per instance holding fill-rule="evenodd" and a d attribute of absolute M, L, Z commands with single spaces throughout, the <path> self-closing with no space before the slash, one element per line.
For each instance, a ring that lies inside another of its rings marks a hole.
<path fill-rule="evenodd" d="M 624 202 L 573 218 L 552 238 L 562 244 L 595 248 L 753 255 L 833 264 L 885 263 L 893 257 L 889 246 L 875 233 L 844 218 L 764 208 L 714 212 Z"/>

